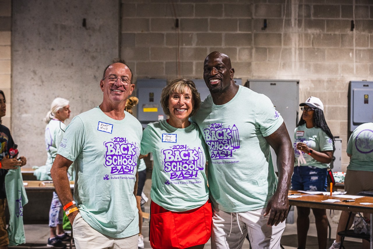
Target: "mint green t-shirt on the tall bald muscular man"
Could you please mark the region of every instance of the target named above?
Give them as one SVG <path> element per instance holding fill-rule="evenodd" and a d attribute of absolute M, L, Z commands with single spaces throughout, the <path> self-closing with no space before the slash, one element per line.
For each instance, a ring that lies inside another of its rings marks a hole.
<path fill-rule="evenodd" d="M 225 212 L 266 207 L 277 177 L 265 137 L 283 123 L 271 100 L 239 85 L 235 97 L 224 105 L 215 105 L 209 95 L 192 120 L 209 147 L 213 205 Z"/>

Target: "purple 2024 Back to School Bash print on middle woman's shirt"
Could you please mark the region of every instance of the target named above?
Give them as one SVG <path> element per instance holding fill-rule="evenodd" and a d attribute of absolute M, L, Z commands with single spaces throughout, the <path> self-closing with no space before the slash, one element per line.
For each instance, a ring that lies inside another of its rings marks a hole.
<path fill-rule="evenodd" d="M 164 171 L 170 173 L 171 181 L 197 179 L 198 171 L 204 170 L 206 161 L 200 147 L 190 149 L 186 145 L 174 145 L 163 149 L 162 154 Z"/>

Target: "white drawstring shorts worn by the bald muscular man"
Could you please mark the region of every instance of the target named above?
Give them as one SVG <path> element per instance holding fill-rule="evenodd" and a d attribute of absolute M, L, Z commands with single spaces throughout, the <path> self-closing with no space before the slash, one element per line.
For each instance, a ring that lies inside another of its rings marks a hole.
<path fill-rule="evenodd" d="M 213 208 L 212 249 L 242 248 L 246 234 L 253 249 L 280 248 L 280 239 L 285 230 L 285 221 L 268 227 L 266 209 L 242 213 L 229 213 Z M 242 233 L 241 233 L 242 232 Z"/>

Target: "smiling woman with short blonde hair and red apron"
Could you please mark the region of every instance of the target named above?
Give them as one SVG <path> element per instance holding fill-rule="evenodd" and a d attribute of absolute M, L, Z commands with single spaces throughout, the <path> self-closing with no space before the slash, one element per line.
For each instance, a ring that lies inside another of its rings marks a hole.
<path fill-rule="evenodd" d="M 150 123 L 143 132 L 140 154 L 152 152 L 154 158 L 150 192 L 152 248 L 203 248 L 211 236 L 206 144 L 200 130 L 189 121 L 200 104 L 193 81 L 173 80 L 161 95 L 169 119 Z"/>

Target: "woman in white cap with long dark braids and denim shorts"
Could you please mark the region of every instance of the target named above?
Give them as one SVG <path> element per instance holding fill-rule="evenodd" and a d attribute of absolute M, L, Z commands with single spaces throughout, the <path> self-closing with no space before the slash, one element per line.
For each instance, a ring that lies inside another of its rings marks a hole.
<path fill-rule="evenodd" d="M 293 190 L 326 191 L 327 164 L 332 161 L 334 137 L 325 121 L 324 105 L 319 98 L 311 96 L 299 106 L 303 106 L 303 113 L 294 131 L 295 167 L 291 186 Z M 312 208 L 312 212 L 319 248 L 325 249 L 328 224 L 326 209 Z M 310 208 L 297 207 L 297 214 L 298 248 L 301 249 L 305 248 L 307 242 Z"/>

